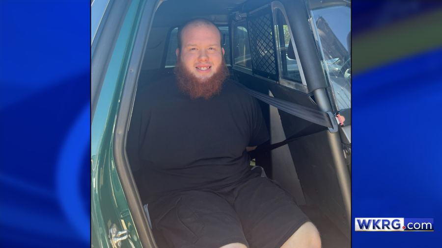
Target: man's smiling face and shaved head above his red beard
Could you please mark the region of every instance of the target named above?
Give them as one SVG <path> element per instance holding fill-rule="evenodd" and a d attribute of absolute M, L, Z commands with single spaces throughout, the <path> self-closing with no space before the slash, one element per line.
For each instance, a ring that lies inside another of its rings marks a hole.
<path fill-rule="evenodd" d="M 221 68 L 224 49 L 220 40 L 220 32 L 214 26 L 187 26 L 176 55 L 189 73 L 204 82 Z"/>

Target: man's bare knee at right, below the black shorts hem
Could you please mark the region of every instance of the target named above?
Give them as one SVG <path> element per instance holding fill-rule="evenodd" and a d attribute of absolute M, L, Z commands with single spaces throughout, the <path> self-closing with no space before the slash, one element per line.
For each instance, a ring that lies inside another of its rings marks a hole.
<path fill-rule="evenodd" d="M 321 248 L 321 238 L 316 226 L 311 222 L 304 223 L 281 248 Z"/>

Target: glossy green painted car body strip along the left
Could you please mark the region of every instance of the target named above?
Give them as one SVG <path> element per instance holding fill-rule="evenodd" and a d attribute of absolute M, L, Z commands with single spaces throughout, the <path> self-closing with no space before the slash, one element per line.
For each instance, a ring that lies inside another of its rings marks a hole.
<path fill-rule="evenodd" d="M 113 133 L 128 61 L 146 0 L 133 0 L 111 54 L 91 124 L 91 247 L 111 248 L 109 230 L 128 230 L 123 248 L 141 248 L 113 159 Z M 105 25 L 105 24 L 104 24 Z M 94 73 L 93 69 L 91 73 Z M 120 236 L 121 237 L 121 236 Z"/>

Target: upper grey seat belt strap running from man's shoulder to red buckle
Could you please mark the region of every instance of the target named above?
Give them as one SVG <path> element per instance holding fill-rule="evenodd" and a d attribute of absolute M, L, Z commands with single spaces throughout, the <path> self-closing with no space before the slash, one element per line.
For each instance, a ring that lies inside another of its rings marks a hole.
<path fill-rule="evenodd" d="M 336 118 L 334 117 L 333 113 L 329 112 L 322 112 L 316 109 L 312 109 L 312 108 L 307 108 L 304 107 L 302 105 L 290 102 L 290 101 L 286 101 L 286 100 L 282 100 L 282 99 L 277 99 L 274 97 L 271 97 L 269 95 L 265 95 L 262 94 L 260 92 L 251 90 L 249 88 L 247 88 L 246 86 L 232 80 L 229 79 L 229 81 L 231 83 L 233 83 L 234 85 L 240 87 L 242 90 L 244 90 L 245 92 L 247 92 L 249 95 L 255 97 L 256 99 L 260 99 L 265 103 L 268 103 L 274 107 L 276 107 L 277 109 L 280 109 L 284 112 L 287 112 L 291 115 L 294 115 L 296 117 L 299 117 L 301 119 L 304 119 L 306 121 L 318 124 L 318 125 L 322 125 L 322 126 L 326 126 L 329 128 L 329 131 L 331 133 L 335 133 L 338 131 L 338 124 L 336 121 Z"/>

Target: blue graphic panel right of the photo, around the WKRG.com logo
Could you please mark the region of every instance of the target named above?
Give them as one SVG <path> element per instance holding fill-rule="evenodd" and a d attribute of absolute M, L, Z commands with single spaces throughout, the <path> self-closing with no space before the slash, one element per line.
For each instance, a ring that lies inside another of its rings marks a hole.
<path fill-rule="evenodd" d="M 441 2 L 354 1 L 352 8 L 354 38 L 413 21 Z M 441 47 L 419 53 L 404 47 L 401 59 L 353 75 L 353 218 L 434 218 L 436 224 L 442 218 Z M 353 221 L 352 245 L 440 247 L 438 229 L 356 232 Z"/>

